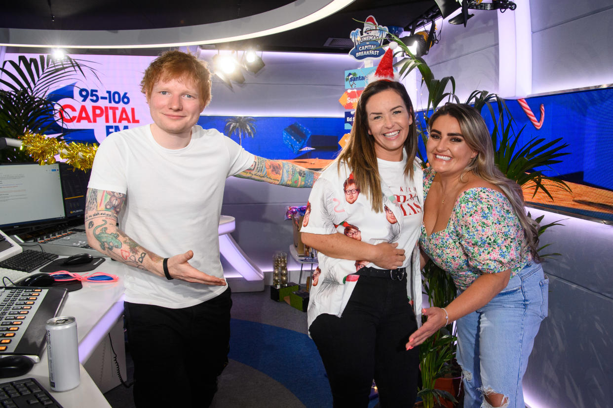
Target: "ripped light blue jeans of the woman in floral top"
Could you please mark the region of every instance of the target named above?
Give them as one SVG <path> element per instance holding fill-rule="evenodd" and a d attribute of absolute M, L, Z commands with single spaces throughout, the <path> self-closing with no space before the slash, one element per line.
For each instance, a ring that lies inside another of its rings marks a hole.
<path fill-rule="evenodd" d="M 530 263 L 487 305 L 456 322 L 464 408 L 490 408 L 484 394 L 505 396 L 501 407 L 524 408 L 522 378 L 536 333 L 547 317 L 549 279 Z"/>

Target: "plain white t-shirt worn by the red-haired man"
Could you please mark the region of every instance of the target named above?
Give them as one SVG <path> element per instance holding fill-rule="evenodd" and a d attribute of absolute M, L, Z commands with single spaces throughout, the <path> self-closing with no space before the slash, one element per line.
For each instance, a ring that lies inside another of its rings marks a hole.
<path fill-rule="evenodd" d="M 226 178 L 254 160 L 215 129 L 195 125 L 188 146 L 171 150 L 159 146 L 145 125 L 113 133 L 101 143 L 88 187 L 127 194 L 120 229 L 143 248 L 164 258 L 192 250 L 189 264 L 223 278 L 218 225 Z M 134 256 L 124 247 L 126 256 Z M 123 266 L 127 302 L 184 308 L 227 289 Z"/>

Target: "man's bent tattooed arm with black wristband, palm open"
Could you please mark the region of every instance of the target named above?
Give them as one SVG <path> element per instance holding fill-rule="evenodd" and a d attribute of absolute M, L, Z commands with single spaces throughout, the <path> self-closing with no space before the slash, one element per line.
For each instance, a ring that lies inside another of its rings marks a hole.
<path fill-rule="evenodd" d="M 164 258 L 131 239 L 117 226 L 118 214 L 124 206 L 126 195 L 114 191 L 88 188 L 85 206 L 85 231 L 89 246 L 116 261 L 165 276 Z M 189 264 L 192 251 L 171 256 L 167 266 L 170 276 L 192 283 L 225 285 L 223 278 L 207 275 Z"/>

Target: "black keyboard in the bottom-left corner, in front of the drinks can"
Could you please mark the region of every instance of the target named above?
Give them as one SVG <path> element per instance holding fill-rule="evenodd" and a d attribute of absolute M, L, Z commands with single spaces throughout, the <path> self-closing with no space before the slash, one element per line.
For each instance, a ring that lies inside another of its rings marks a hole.
<path fill-rule="evenodd" d="M 49 391 L 33 378 L 0 384 L 0 406 L 6 408 L 62 408 Z"/>

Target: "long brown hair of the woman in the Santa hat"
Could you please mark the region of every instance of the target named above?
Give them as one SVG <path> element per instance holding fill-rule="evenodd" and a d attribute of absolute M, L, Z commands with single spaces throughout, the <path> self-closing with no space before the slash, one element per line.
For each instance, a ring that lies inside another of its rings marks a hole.
<path fill-rule="evenodd" d="M 381 192 L 381 176 L 379 176 L 379 166 L 375 154 L 375 139 L 368 134 L 368 115 L 366 113 L 366 103 L 368 99 L 379 92 L 392 89 L 405 103 L 407 112 L 413 118 L 413 123 L 409 126 L 409 134 L 405 141 L 405 176 L 408 174 L 413 177 L 413 161 L 417 152 L 417 129 L 415 125 L 415 114 L 413 104 L 409 94 L 406 93 L 405 86 L 395 81 L 375 81 L 365 87 L 360 95 L 356 106 L 353 126 L 349 135 L 349 141 L 337 158 L 337 166 L 340 169 L 341 161 L 345 161 L 356 179 L 356 186 L 360 193 L 370 198 L 373 211 L 383 211 L 383 197 Z"/>

